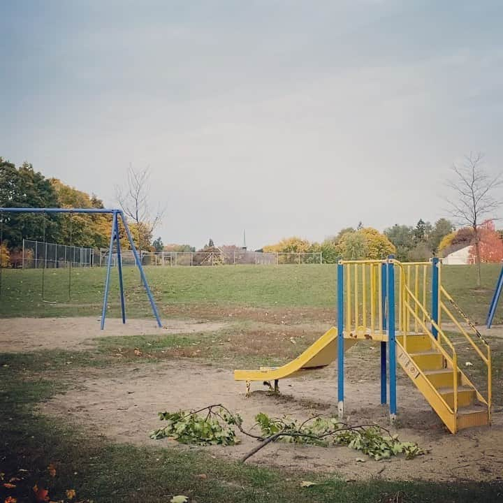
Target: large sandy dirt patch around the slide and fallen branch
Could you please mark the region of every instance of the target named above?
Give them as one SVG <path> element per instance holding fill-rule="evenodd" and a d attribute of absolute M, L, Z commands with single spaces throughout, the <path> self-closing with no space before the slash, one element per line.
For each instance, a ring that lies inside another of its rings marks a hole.
<path fill-rule="evenodd" d="M 311 414 L 336 414 L 337 379 L 335 369 L 318 373 L 317 379 L 282 381 L 280 396 L 260 391 L 245 398 L 245 385 L 233 381 L 232 372 L 189 360 L 166 361 L 117 369 L 86 370 L 78 387 L 44 404 L 45 414 L 70 417 L 117 442 L 173 446 L 168 439 L 151 440 L 148 432 L 160 428 L 158 411 L 198 409 L 221 403 L 239 412 L 251 428 L 259 411 L 272 416 L 288 414 L 304 419 Z M 347 383 L 347 417 L 351 424 L 378 423 L 386 427 L 387 410 L 379 404 L 379 383 L 365 380 Z M 291 444 L 271 444 L 249 462 L 289 469 L 340 472 L 347 480 L 381 476 L 388 479 L 494 480 L 503 473 L 503 421 L 495 414 L 492 428 L 474 428 L 451 435 L 436 414 L 411 386 L 399 386 L 400 439 L 418 442 L 429 453 L 414 460 L 395 458 L 375 462 L 347 447 L 322 448 Z M 256 440 L 240 435 L 242 444 L 207 449 L 223 458 L 240 458 L 256 445 Z M 180 446 L 180 449 L 187 447 Z"/>

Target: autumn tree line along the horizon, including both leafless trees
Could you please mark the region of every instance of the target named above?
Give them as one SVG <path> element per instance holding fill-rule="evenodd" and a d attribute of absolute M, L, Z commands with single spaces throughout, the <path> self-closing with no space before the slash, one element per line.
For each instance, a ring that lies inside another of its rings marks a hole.
<path fill-rule="evenodd" d="M 383 233 L 360 222 L 356 228 L 343 228 L 323 242 L 291 237 L 259 251 L 321 253 L 325 263 L 339 259 L 380 259 L 394 254 L 400 261 L 425 261 L 431 256 L 446 256 L 462 247 L 472 246 L 475 263 L 503 259 L 503 231 L 496 231 L 488 219 L 500 205 L 495 189 L 503 180 L 499 173 L 490 177 L 482 166 L 483 154 L 470 153 L 462 166 L 454 165 L 448 187 L 454 198 L 448 201 L 455 221 L 441 218 L 431 224 L 419 219 L 416 226 L 395 224 Z M 117 200 L 129 221 L 138 248 L 151 251 L 194 251 L 190 245 L 163 245 L 153 240 L 154 228 L 162 217 L 159 208 L 149 207 L 149 170 L 130 166 L 127 187 L 116 188 Z M 16 167 L 0 157 L 0 206 L 3 207 L 85 207 L 103 208 L 103 201 L 57 180 L 46 178 L 29 163 Z M 485 218 L 485 219 L 484 219 Z M 455 231 L 455 224 L 461 228 Z M 1 266 L 8 266 L 8 253 L 15 254 L 22 240 L 59 242 L 77 247 L 108 247 L 111 231 L 109 214 L 0 214 L 3 253 Z M 119 228 L 121 245 L 129 248 L 125 230 Z M 212 240 L 202 251 L 213 248 Z M 479 281 L 480 283 L 480 271 Z"/>

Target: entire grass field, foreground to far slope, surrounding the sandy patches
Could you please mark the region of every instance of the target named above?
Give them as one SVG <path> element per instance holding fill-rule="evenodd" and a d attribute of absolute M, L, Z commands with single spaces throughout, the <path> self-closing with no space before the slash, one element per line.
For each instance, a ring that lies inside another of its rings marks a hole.
<path fill-rule="evenodd" d="M 485 265 L 483 288 L 474 289 L 474 268 L 444 267 L 444 285 L 462 309 L 481 323 L 499 270 L 499 265 Z M 66 302 L 67 271 L 47 270 L 46 300 L 59 301 L 52 305 L 42 302 L 40 270 L 3 270 L 0 317 L 98 318 L 104 274 L 100 269 L 73 270 L 72 299 Z M 129 316 L 151 316 L 138 272 L 126 269 L 124 274 Z M 337 472 L 306 472 L 302 460 L 296 469 L 242 465 L 215 459 L 201 449 L 181 451 L 115 443 L 93 428 L 70 423 L 64 415 L 41 414 L 43 402 L 71 391 L 89 372 L 113 370 L 121 374 L 131 367 L 145 369 L 147 365 L 156 369 L 163 360 L 177 358 L 224 369 L 277 364 L 295 357 L 319 336 L 323 324 L 335 320 L 333 265 L 147 268 L 147 276 L 166 319 L 224 320 L 228 326 L 191 335 L 102 337 L 95 347 L 82 351 L 0 352 L 0 473 L 2 483 L 13 477 L 20 479 L 15 481 L 16 488 L 0 486 L 1 502 L 8 495 L 17 497 L 18 502 L 33 501 L 35 483 L 47 486 L 54 501 L 64 500 L 65 491 L 75 489 L 74 501 L 95 503 L 168 502 L 175 494 L 189 496 L 191 503 L 503 500 L 503 484 L 496 476 L 494 481 L 463 479 L 455 483 L 353 480 Z M 109 305 L 109 316 L 119 316 L 115 271 Z M 502 321 L 502 310 L 497 321 Z M 292 338 L 296 344 L 292 344 Z M 503 344 L 499 339 L 494 342 L 495 401 L 501 406 Z M 141 357 L 136 349 L 140 349 Z M 355 349 L 348 358 L 348 372 L 359 375 L 361 362 L 368 363 L 375 354 L 368 345 Z M 56 467 L 55 477 L 48 473 L 49 465 Z M 303 480 L 319 484 L 301 488 Z"/>

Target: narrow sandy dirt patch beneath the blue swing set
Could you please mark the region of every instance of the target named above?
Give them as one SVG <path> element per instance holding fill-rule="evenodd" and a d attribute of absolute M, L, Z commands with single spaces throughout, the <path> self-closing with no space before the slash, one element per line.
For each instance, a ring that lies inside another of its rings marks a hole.
<path fill-rule="evenodd" d="M 7 318 L 0 323 L 0 347 L 3 353 L 40 349 L 89 349 L 95 337 L 146 335 L 156 333 L 196 333 L 220 330 L 225 323 L 171 319 L 159 328 L 154 320 L 110 318 L 100 330 L 100 319 L 82 318 Z"/>

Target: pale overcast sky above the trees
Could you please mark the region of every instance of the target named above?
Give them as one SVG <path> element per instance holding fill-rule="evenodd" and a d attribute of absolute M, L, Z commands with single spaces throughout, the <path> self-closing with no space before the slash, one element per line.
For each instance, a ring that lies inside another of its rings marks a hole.
<path fill-rule="evenodd" d="M 502 26 L 500 0 L 0 1 L 0 156 L 108 206 L 150 166 L 165 243 L 434 221 L 463 154 L 503 168 Z"/>

